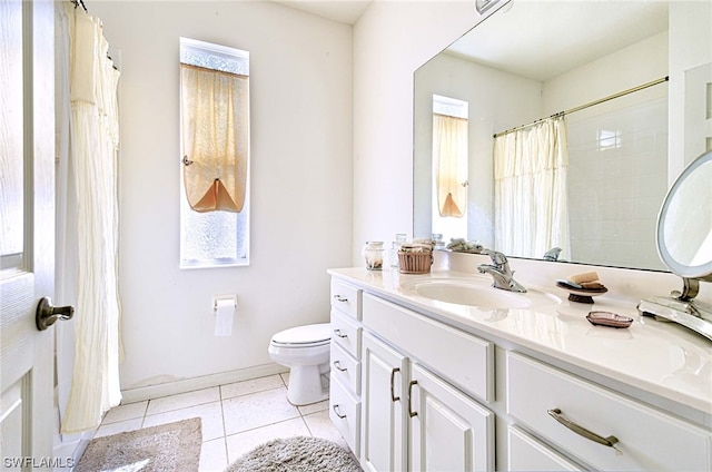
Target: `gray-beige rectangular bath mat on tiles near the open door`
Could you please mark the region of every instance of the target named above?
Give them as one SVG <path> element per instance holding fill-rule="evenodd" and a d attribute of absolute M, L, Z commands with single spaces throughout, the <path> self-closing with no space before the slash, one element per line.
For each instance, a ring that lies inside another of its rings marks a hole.
<path fill-rule="evenodd" d="M 202 431 L 199 417 L 91 440 L 75 472 L 197 471 Z"/>

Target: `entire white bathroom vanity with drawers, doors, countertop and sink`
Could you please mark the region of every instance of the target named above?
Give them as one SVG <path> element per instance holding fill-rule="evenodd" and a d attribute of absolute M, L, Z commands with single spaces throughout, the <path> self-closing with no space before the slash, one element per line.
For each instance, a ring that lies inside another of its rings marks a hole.
<path fill-rule="evenodd" d="M 328 272 L 330 416 L 364 470 L 712 469 L 710 340 L 609 296 Z"/>

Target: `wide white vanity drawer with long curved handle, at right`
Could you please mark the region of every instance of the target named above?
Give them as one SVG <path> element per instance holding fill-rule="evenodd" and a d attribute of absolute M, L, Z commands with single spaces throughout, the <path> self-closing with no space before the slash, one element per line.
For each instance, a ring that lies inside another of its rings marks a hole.
<path fill-rule="evenodd" d="M 610 471 L 712 466 L 710 432 L 518 354 L 507 353 L 506 365 L 507 413 L 583 463 Z M 573 424 L 602 440 L 614 436 L 615 449 Z"/>

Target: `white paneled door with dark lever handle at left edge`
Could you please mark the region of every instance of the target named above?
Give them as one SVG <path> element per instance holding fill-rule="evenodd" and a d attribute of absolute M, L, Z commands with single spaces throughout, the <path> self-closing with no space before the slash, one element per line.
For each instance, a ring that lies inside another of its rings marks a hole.
<path fill-rule="evenodd" d="M 51 469 L 55 278 L 53 4 L 0 0 L 0 456 Z M 24 18 L 24 20 L 23 20 Z"/>

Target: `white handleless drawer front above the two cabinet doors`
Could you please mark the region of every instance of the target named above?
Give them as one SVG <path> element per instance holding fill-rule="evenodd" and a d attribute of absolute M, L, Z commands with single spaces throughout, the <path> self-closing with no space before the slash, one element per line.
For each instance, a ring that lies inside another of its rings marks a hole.
<path fill-rule="evenodd" d="M 364 326 L 485 402 L 494 401 L 494 344 L 386 302 L 363 296 Z"/>

